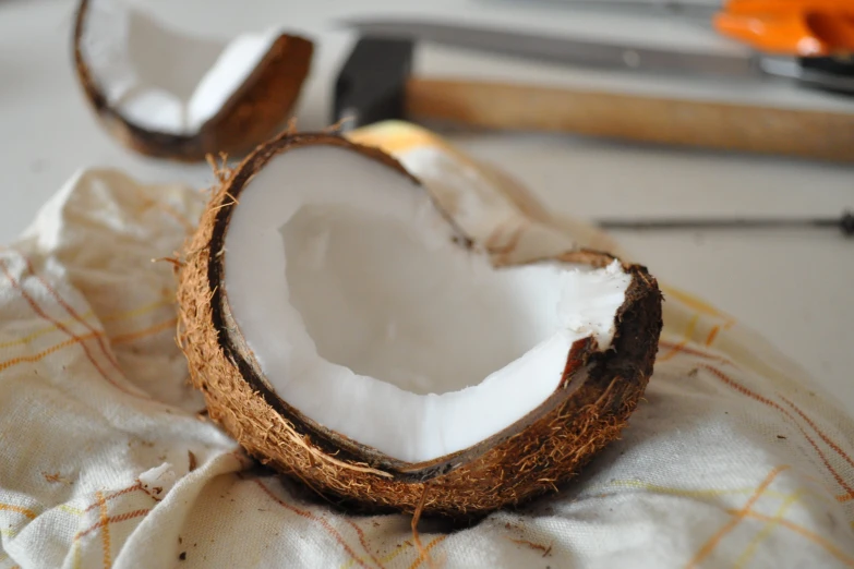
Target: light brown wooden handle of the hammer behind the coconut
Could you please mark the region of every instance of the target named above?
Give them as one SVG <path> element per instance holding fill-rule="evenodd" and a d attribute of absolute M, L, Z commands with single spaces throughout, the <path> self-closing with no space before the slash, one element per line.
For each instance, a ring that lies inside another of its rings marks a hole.
<path fill-rule="evenodd" d="M 854 113 L 411 78 L 406 116 L 490 129 L 569 132 L 854 162 Z"/>

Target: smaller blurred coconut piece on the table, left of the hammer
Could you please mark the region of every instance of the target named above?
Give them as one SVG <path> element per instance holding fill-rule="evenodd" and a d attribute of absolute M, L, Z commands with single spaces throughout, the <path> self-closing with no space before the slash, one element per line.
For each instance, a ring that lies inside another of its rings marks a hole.
<path fill-rule="evenodd" d="M 276 134 L 313 44 L 269 29 L 230 41 L 168 29 L 121 0 L 81 0 L 74 69 L 106 130 L 145 155 L 243 155 Z"/>

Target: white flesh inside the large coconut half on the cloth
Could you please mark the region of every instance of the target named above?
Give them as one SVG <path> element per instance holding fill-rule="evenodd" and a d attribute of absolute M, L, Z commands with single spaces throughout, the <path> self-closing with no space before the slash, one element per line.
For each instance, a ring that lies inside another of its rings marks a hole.
<path fill-rule="evenodd" d="M 354 150 L 270 159 L 234 206 L 225 291 L 276 395 L 407 462 L 466 449 L 557 388 L 573 342 L 606 349 L 632 280 L 494 268 L 411 179 Z"/>

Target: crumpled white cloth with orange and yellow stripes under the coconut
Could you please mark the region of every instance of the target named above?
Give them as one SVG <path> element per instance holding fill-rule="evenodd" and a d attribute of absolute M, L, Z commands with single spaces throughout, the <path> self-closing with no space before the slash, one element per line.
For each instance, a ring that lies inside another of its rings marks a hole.
<path fill-rule="evenodd" d="M 507 191 L 429 136 L 397 144 L 401 131 L 372 142 L 425 179 L 441 177 L 408 153 L 447 153 L 471 174 L 452 193 L 481 174 L 483 191 Z M 0 250 L 0 569 L 854 566 L 851 417 L 672 289 L 622 440 L 518 511 L 456 532 L 424 522 L 430 559 L 409 517 L 346 516 L 253 468 L 197 415 L 172 267 L 152 261 L 179 250 L 204 199 L 83 171 Z"/>

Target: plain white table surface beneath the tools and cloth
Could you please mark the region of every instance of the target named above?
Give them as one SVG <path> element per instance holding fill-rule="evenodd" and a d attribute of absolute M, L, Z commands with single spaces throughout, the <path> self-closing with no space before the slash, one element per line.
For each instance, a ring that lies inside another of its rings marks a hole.
<path fill-rule="evenodd" d="M 157 0 L 151 4 L 157 15 L 185 29 L 233 35 L 281 23 L 318 40 L 299 107 L 303 129 L 328 122 L 329 87 L 353 39 L 332 25 L 342 15 L 453 14 L 469 22 L 489 20 L 588 35 L 616 31 L 623 37 L 643 28 L 647 36 L 665 43 L 729 49 L 714 36 L 683 23 L 646 22 L 643 27 L 625 17 L 616 24 L 603 23 L 598 16 L 568 17 L 565 9 L 545 4 L 526 10 L 489 0 L 371 0 L 358 5 L 344 0 Z M 0 0 L 0 242 L 13 240 L 82 167 L 118 167 L 145 181 L 207 185 L 213 179 L 205 166 L 133 155 L 99 129 L 71 70 L 73 11 L 70 1 Z M 490 70 L 517 78 L 554 71 L 532 70 L 528 64 L 522 71 L 447 49 L 425 51 L 418 69 L 480 75 Z M 814 102 L 807 95 L 798 100 Z M 457 134 L 453 140 L 501 164 L 555 210 L 580 217 L 837 216 L 854 208 L 854 168 L 850 167 L 573 136 Z M 624 233 L 621 239 L 660 280 L 703 296 L 761 331 L 841 404 L 854 410 L 854 240 L 833 231 Z"/>

